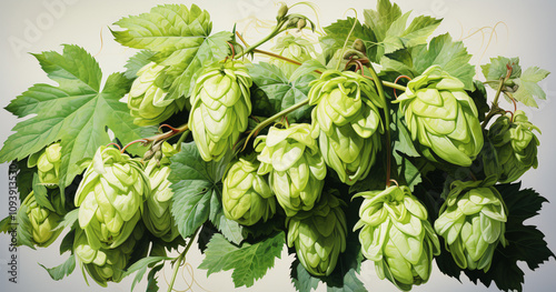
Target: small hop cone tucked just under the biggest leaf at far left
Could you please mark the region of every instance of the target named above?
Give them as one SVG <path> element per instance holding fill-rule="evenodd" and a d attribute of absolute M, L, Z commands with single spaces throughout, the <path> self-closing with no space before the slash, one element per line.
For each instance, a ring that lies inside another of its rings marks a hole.
<path fill-rule="evenodd" d="M 48 188 L 57 187 L 60 182 L 61 145 L 59 142 L 50 144 L 40 154 L 29 157 L 27 165 L 37 167 L 39 181 Z"/>

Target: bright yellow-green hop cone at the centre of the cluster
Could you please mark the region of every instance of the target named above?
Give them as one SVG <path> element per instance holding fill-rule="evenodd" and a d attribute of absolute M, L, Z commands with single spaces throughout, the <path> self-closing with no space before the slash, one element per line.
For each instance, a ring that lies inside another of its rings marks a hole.
<path fill-rule="evenodd" d="M 267 135 L 255 139 L 255 150 L 261 162 L 257 173 L 269 173 L 270 188 L 286 215 L 312 209 L 325 184 L 326 164 L 310 125 L 271 127 Z"/>

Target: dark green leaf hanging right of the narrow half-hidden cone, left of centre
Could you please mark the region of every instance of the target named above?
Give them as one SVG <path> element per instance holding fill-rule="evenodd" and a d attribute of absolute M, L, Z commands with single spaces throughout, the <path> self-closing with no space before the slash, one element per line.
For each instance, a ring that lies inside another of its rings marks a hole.
<path fill-rule="evenodd" d="M 241 228 L 224 217 L 221 204 L 220 180 L 228 159 L 206 162 L 191 142 L 185 143 L 171 161 L 168 177 L 173 191 L 171 212 L 181 236 L 190 236 L 210 220 L 229 240 L 241 242 Z"/>

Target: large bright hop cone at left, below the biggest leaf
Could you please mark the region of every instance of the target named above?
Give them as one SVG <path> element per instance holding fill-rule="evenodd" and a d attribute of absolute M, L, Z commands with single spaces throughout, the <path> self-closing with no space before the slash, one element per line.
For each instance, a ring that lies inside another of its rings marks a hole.
<path fill-rule="evenodd" d="M 123 243 L 141 219 L 149 179 L 140 162 L 118 149 L 100 147 L 76 192 L 79 225 L 93 249 Z"/>

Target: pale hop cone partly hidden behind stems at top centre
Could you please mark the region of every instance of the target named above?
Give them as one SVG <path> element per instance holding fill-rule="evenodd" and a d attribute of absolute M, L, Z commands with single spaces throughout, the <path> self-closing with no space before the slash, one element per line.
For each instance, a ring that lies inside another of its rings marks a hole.
<path fill-rule="evenodd" d="M 315 46 L 301 37 L 286 34 L 276 40 L 276 46 L 271 48 L 271 51 L 281 57 L 302 63 L 312 59 L 311 53 L 315 53 Z M 292 64 L 278 58 L 270 58 L 269 62 L 280 68 L 287 77 L 290 77 L 294 71 L 299 68 L 297 64 Z"/>

